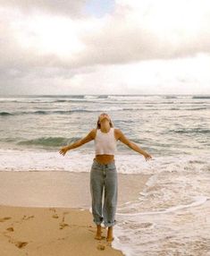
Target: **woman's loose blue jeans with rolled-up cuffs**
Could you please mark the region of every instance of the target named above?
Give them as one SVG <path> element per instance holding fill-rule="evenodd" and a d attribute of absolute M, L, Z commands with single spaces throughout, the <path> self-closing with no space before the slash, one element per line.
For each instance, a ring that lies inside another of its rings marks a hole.
<path fill-rule="evenodd" d="M 104 205 L 102 208 L 102 196 L 105 188 Z M 117 208 L 118 178 L 115 161 L 107 165 L 100 164 L 93 159 L 90 170 L 90 192 L 92 197 L 93 221 L 100 225 L 104 221 L 105 226 L 116 224 L 115 213 Z"/>

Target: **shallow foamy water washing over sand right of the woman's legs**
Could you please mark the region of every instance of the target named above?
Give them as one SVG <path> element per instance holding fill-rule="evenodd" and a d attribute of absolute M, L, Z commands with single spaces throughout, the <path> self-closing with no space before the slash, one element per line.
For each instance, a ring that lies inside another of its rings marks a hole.
<path fill-rule="evenodd" d="M 118 208 L 115 249 L 126 256 L 207 255 L 210 174 L 207 164 L 190 168 L 157 172 L 136 201 Z"/>

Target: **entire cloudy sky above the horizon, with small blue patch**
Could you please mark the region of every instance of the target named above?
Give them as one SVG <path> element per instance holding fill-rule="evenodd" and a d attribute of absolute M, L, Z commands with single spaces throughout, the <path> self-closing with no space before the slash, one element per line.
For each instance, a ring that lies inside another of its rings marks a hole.
<path fill-rule="evenodd" d="M 209 0 L 0 0 L 0 95 L 210 94 Z"/>

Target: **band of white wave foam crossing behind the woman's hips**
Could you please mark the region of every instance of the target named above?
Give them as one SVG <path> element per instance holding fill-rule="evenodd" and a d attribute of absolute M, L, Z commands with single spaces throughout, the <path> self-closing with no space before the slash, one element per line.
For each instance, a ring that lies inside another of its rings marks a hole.
<path fill-rule="evenodd" d="M 46 150 L 14 150 L 0 149 L 0 170 L 1 171 L 70 171 L 89 172 L 94 153 L 83 151 L 68 151 L 65 156 L 57 151 Z M 202 156 L 170 156 L 153 157 L 146 161 L 139 154 L 117 154 L 115 155 L 117 171 L 122 174 L 146 174 L 155 175 L 163 173 L 209 171 L 209 155 Z"/>

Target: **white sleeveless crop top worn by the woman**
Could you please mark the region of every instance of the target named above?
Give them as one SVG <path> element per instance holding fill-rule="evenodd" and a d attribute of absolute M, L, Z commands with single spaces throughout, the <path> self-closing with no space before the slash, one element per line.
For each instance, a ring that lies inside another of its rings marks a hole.
<path fill-rule="evenodd" d="M 114 155 L 114 152 L 116 151 L 114 128 L 110 127 L 109 132 L 101 132 L 100 129 L 97 129 L 94 142 L 96 155 Z"/>

